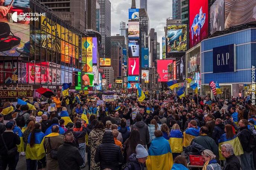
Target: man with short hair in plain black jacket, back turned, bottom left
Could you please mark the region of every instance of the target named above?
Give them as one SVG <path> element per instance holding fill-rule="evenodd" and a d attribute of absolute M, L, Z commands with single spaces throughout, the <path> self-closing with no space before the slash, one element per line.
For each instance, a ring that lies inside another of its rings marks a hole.
<path fill-rule="evenodd" d="M 65 142 L 58 148 L 58 163 L 60 170 L 80 170 L 84 160 L 79 150 L 74 145 L 73 134 L 68 132 L 65 134 Z"/>

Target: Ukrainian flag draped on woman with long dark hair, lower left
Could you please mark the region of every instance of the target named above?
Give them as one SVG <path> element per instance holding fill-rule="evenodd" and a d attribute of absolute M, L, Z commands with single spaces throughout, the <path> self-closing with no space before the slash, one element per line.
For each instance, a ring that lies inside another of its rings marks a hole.
<path fill-rule="evenodd" d="M 44 139 L 43 132 L 35 132 L 35 144 L 30 146 L 31 133 L 28 136 L 28 144 L 26 147 L 26 159 L 40 160 L 45 156 L 44 148 L 40 147 L 42 140 Z M 42 150 L 43 149 L 43 150 Z M 39 151 L 41 150 L 41 151 Z M 38 152 L 42 153 L 38 155 Z"/>

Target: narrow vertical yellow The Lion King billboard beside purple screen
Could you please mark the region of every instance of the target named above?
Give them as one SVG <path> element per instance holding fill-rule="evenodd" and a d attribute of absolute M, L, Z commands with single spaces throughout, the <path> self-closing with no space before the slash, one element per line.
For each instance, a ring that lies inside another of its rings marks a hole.
<path fill-rule="evenodd" d="M 85 62 L 86 66 L 84 71 L 92 72 L 92 55 L 93 55 L 93 39 L 92 37 L 82 38 L 82 62 Z"/>

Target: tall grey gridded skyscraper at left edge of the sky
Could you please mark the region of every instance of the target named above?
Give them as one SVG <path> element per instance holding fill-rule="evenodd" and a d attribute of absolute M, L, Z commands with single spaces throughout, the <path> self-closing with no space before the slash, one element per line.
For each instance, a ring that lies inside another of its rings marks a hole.
<path fill-rule="evenodd" d="M 100 34 L 103 49 L 100 57 L 111 56 L 111 3 L 109 0 L 99 0 L 100 4 Z"/>

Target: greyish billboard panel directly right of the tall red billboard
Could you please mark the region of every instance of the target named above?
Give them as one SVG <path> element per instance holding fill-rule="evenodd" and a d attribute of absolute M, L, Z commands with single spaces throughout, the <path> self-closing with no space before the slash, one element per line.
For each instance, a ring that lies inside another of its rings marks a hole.
<path fill-rule="evenodd" d="M 224 1 L 216 0 L 210 7 L 210 33 L 224 29 Z"/>

